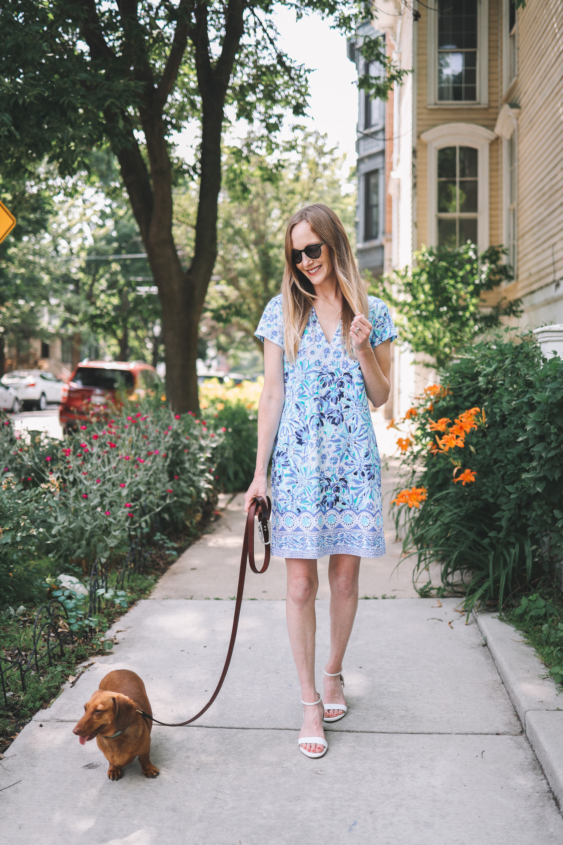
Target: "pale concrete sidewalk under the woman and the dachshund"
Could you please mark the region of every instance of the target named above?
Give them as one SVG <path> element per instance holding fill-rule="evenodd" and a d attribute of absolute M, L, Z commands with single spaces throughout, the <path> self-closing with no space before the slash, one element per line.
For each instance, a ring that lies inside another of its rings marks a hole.
<path fill-rule="evenodd" d="M 230 636 L 244 515 L 240 498 L 114 626 L 119 644 L 40 711 L 0 762 L 11 845 L 551 845 L 563 820 L 477 624 L 453 599 L 420 599 L 398 548 L 362 563 L 344 665 L 349 712 L 328 754 L 297 748 L 300 691 L 285 629 L 283 561 L 246 576 L 225 686 L 196 727 L 154 726 L 147 780 L 119 782 L 72 728 L 111 669 L 143 678 L 154 715 L 182 721 L 214 689 Z M 391 537 L 392 538 L 392 537 Z M 326 574 L 320 566 L 321 579 Z M 394 581 L 393 579 L 397 579 Z M 266 593 L 262 591 L 266 590 Z M 190 597 L 193 596 L 192 599 Z M 214 601 L 214 597 L 222 601 Z M 317 683 L 328 656 L 317 602 Z M 207 600 L 206 600 L 207 599 Z M 441 606 L 440 606 L 441 603 Z M 11 784 L 15 784 L 11 786 Z"/>

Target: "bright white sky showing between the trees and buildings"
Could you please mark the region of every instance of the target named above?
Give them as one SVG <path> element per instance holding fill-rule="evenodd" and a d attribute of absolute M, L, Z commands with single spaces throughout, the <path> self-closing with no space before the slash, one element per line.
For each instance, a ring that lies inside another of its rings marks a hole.
<path fill-rule="evenodd" d="M 358 119 L 358 90 L 355 65 L 346 56 L 346 38 L 331 30 L 327 20 L 311 15 L 295 20 L 295 13 L 279 7 L 273 15 L 278 27 L 280 46 L 295 62 L 311 68 L 309 74 L 309 108 L 306 119 L 299 123 L 328 134 L 330 146 L 338 144 L 347 160 L 343 172 L 355 166 L 355 125 Z M 288 123 L 295 122 L 290 116 Z M 233 128 L 236 134 L 236 126 Z M 178 152 L 192 161 L 192 141 L 196 128 L 188 127 L 176 136 Z M 241 131 L 244 132 L 244 129 Z"/>

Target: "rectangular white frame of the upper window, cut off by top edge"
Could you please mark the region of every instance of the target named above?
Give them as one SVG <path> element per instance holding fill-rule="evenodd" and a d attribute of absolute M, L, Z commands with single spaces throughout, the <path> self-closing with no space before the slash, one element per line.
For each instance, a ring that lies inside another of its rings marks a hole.
<path fill-rule="evenodd" d="M 487 108 L 489 106 L 489 0 L 477 0 L 477 99 L 438 100 L 438 0 L 428 0 L 427 107 Z"/>

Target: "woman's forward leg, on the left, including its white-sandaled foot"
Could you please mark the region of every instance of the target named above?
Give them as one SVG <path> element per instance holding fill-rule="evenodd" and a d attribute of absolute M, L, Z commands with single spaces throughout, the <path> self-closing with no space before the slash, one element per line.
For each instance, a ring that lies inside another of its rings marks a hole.
<path fill-rule="evenodd" d="M 315 686 L 315 599 L 318 589 L 317 561 L 286 558 L 287 596 L 285 616 L 290 635 L 291 651 L 301 685 L 303 701 L 316 701 Z M 322 730 L 322 707 L 304 707 L 305 717 L 300 736 L 324 737 Z M 322 745 L 306 743 L 306 751 L 320 753 Z"/>

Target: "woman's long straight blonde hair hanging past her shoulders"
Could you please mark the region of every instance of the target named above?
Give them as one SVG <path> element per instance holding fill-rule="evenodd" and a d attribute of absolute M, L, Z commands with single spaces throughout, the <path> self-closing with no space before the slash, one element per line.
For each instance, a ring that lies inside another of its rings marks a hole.
<path fill-rule="evenodd" d="M 291 218 L 285 232 L 285 270 L 282 281 L 282 312 L 284 314 L 285 357 L 294 362 L 299 352 L 301 335 L 305 330 L 311 308 L 317 299 L 315 288 L 304 273 L 297 270 L 291 258 L 291 232 L 306 221 L 319 242 L 326 241 L 333 259 L 334 271 L 342 293 L 342 341 L 350 357 L 355 352 L 350 340 L 350 325 L 355 314 L 368 316 L 365 286 L 355 263 L 348 235 L 337 214 L 328 205 L 306 205 Z"/>

